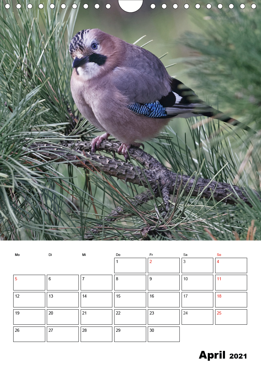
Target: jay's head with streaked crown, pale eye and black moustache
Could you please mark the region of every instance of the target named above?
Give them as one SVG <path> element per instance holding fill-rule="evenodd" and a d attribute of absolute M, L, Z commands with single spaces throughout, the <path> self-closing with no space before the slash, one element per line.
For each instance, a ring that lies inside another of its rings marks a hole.
<path fill-rule="evenodd" d="M 69 45 L 72 67 L 76 68 L 76 73 L 90 79 L 114 68 L 116 39 L 120 40 L 98 28 L 76 33 Z"/>

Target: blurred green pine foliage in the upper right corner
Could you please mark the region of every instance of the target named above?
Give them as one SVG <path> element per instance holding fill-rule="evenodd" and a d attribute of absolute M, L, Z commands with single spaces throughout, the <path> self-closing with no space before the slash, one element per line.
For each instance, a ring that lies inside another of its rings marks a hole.
<path fill-rule="evenodd" d="M 219 104 L 244 124 L 261 129 L 261 2 L 251 8 L 247 2 L 218 1 L 212 8 L 198 13 L 194 22 L 202 24 L 202 32 L 188 31 L 182 45 L 193 50 L 187 59 L 192 66 L 189 77 L 196 88 L 205 91 L 210 102 Z M 207 16 L 206 16 L 207 14 Z M 260 139 L 260 138 L 259 138 Z"/>

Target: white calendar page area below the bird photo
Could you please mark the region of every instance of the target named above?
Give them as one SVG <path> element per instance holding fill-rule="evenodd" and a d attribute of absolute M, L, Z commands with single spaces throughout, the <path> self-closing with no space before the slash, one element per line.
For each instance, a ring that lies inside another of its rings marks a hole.
<path fill-rule="evenodd" d="M 2 247 L 3 369 L 251 369 L 260 363 L 260 242 Z M 199 359 L 202 351 L 217 358 Z"/>

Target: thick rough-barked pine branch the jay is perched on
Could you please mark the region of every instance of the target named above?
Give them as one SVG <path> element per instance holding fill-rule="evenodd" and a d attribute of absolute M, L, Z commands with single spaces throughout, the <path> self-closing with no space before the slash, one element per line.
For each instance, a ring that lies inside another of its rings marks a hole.
<path fill-rule="evenodd" d="M 100 150 L 116 152 L 120 143 L 113 140 L 104 140 Z M 98 153 L 90 152 L 89 141 L 69 143 L 66 147 L 55 144 L 35 142 L 29 147 L 27 155 L 38 158 L 40 161 L 54 161 L 73 164 L 77 167 L 87 168 L 90 171 L 103 172 L 115 176 L 126 182 L 151 188 L 155 193 L 176 194 L 183 190 L 184 195 L 200 196 L 200 198 L 214 199 L 219 202 L 234 204 L 238 199 L 251 206 L 250 199 L 243 188 L 231 186 L 224 182 L 211 181 L 210 179 L 195 178 L 195 176 L 176 174 L 150 154 L 140 148 L 131 147 L 130 156 L 140 162 L 145 168 L 134 166 L 132 163 L 120 159 L 109 158 Z M 260 195 L 255 192 L 261 200 Z M 165 199 L 164 199 L 165 201 Z"/>

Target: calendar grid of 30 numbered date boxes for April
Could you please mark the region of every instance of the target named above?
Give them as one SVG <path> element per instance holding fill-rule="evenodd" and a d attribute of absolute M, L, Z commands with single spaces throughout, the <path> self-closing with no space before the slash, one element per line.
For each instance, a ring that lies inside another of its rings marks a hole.
<path fill-rule="evenodd" d="M 179 342 L 247 324 L 247 258 L 114 259 L 114 274 L 13 275 L 14 342 Z"/>

